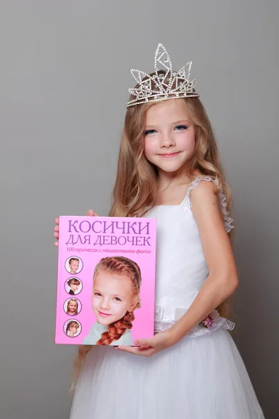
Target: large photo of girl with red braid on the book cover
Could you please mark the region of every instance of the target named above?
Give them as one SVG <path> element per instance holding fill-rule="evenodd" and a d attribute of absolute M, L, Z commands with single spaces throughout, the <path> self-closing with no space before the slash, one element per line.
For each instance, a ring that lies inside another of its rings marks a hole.
<path fill-rule="evenodd" d="M 123 256 L 102 258 L 93 274 L 92 310 L 96 316 L 83 344 L 133 345 L 134 310 L 140 308 L 140 267 Z"/>

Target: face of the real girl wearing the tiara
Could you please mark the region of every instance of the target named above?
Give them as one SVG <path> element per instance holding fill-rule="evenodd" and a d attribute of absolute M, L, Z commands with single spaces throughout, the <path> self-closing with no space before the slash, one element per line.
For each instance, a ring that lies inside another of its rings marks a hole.
<path fill-rule="evenodd" d="M 195 151 L 195 126 L 183 99 L 151 106 L 144 131 L 144 155 L 159 171 L 176 172 Z"/>

